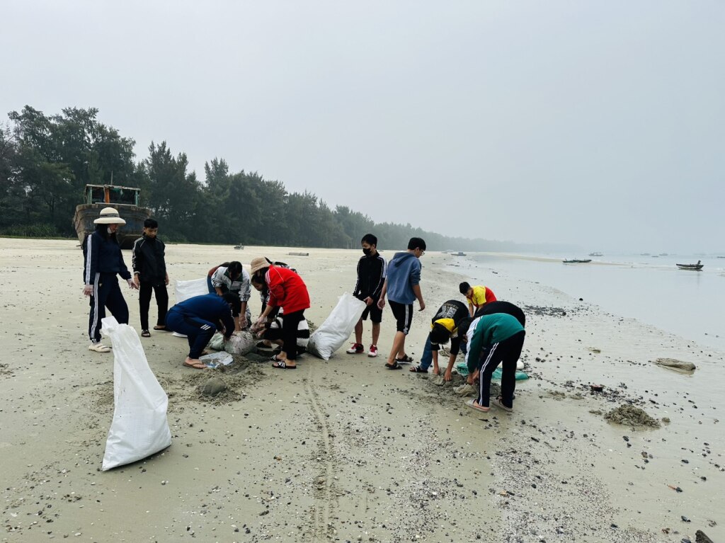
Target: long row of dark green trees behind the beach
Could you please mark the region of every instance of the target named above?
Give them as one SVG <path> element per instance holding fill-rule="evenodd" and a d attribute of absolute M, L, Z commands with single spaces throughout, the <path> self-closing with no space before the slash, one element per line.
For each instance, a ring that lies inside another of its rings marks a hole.
<path fill-rule="evenodd" d="M 204 180 L 189 171 L 186 154 L 152 142 L 137 160 L 136 142 L 100 123 L 98 109 L 68 107 L 45 115 L 25 106 L 0 128 L 0 235 L 75 237 L 72 217 L 86 184 L 141 188 L 167 241 L 213 244 L 357 247 L 363 234 L 381 249 L 405 248 L 412 236 L 428 249 L 512 250 L 510 242 L 450 238 L 410 224 L 375 223 L 345 206 L 328 206 L 281 181 L 230 172 L 224 159 L 204 165 Z M 526 250 L 527 246 L 515 248 Z"/>

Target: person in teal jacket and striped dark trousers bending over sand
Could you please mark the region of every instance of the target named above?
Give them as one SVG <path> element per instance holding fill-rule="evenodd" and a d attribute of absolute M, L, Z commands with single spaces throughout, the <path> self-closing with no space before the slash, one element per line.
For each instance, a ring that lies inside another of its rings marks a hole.
<path fill-rule="evenodd" d="M 476 371 L 480 363 L 479 397 L 467 405 L 484 413 L 489 411 L 491 376 L 501 365 L 501 396 L 494 399 L 494 405 L 504 411 L 512 411 L 516 362 L 521 356 L 526 331 L 519 320 L 508 313 L 483 315 L 474 320 L 471 327 L 475 328 L 463 331 L 461 326 L 458 330 L 459 335 L 465 335 L 464 341 L 468 341 L 468 372 Z"/>

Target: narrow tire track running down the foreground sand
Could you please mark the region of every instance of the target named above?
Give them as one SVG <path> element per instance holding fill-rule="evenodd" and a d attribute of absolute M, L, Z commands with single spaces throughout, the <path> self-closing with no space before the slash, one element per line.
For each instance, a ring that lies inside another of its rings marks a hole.
<path fill-rule="evenodd" d="M 312 512 L 312 542 L 323 542 L 334 533 L 330 518 L 334 507 L 334 468 L 335 454 L 332 446 L 332 435 L 327 423 L 327 413 L 318 394 L 318 387 L 310 380 L 303 378 L 305 394 L 310 403 L 310 413 L 319 432 L 318 452 L 314 458 L 318 471 L 313 481 L 312 494 L 315 497 L 315 510 Z"/>

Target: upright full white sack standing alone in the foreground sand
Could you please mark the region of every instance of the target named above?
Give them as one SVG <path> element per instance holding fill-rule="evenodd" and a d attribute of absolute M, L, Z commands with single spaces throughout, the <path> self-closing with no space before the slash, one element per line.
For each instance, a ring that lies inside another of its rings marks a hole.
<path fill-rule="evenodd" d="M 113 346 L 113 421 L 103 471 L 153 455 L 171 444 L 168 397 L 149 368 L 136 330 L 113 317 L 101 320 Z"/>

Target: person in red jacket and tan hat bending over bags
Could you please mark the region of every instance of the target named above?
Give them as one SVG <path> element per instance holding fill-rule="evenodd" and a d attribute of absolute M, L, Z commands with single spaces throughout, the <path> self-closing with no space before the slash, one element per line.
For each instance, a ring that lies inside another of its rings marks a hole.
<path fill-rule="evenodd" d="M 263 281 L 269 289 L 267 307 L 252 326 L 252 331 L 263 328 L 268 315 L 275 307 L 281 307 L 282 315 L 282 352 L 273 356 L 273 368 L 294 370 L 297 363 L 297 327 L 305 318 L 305 310 L 310 307 L 310 294 L 307 294 L 305 281 L 297 272 L 289 268 L 273 265 L 266 258 L 255 258 L 249 266 L 249 273 L 255 281 Z M 289 348 L 291 346 L 291 349 Z"/>

